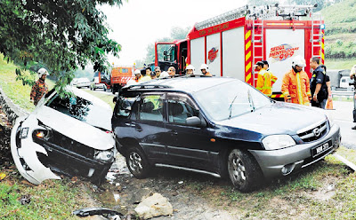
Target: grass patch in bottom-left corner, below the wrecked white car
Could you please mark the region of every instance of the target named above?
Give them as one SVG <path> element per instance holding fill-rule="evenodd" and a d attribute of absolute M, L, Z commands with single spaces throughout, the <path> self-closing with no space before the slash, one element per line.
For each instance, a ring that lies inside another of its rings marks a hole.
<path fill-rule="evenodd" d="M 20 181 L 22 177 L 17 171 L 2 171 L 6 177 L 0 182 L 0 219 L 78 219 L 71 213 L 89 206 L 80 182 L 64 178 L 35 186 Z M 30 198 L 29 203 L 21 204 L 23 196 Z"/>

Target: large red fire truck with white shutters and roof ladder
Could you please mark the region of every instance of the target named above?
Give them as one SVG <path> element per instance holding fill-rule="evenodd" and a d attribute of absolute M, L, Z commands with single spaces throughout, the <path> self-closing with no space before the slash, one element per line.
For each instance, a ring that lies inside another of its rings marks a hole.
<path fill-rule="evenodd" d="M 174 66 L 182 73 L 187 64 L 198 71 L 206 63 L 213 75 L 231 76 L 255 86 L 253 65 L 267 60 L 279 78 L 272 98 L 282 98 L 283 75 L 296 55 L 306 60 L 304 70 L 310 77 L 309 59 L 317 56 L 324 63 L 325 25 L 320 15 L 317 19 L 312 13 L 314 7 L 317 5 L 244 6 L 198 22 L 186 39 L 156 43 L 155 66 L 164 70 Z"/>

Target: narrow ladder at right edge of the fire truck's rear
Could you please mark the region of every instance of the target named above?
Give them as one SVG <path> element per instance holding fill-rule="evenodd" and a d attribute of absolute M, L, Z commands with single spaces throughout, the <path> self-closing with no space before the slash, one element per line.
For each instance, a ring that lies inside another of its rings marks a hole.
<path fill-rule="evenodd" d="M 312 34 L 311 34 L 311 40 L 310 42 L 312 43 L 312 57 L 318 57 L 321 60 L 321 40 L 323 38 L 323 33 L 322 33 L 322 20 L 321 20 L 321 14 L 320 14 L 320 19 L 314 20 L 314 16 L 312 15 Z M 315 28 L 319 27 L 319 28 Z M 314 54 L 315 53 L 315 54 Z"/>

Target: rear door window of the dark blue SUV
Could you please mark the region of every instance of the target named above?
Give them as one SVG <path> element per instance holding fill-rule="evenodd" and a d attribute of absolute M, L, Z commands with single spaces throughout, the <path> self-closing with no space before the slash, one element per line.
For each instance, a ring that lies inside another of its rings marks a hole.
<path fill-rule="evenodd" d="M 140 105 L 140 120 L 163 122 L 163 103 L 161 95 L 144 96 Z"/>

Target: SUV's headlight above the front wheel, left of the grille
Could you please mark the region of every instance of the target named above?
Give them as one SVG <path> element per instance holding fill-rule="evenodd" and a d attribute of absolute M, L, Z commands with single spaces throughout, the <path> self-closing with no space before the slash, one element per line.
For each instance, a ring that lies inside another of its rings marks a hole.
<path fill-rule="evenodd" d="M 263 138 L 262 143 L 266 150 L 277 150 L 295 145 L 295 140 L 289 135 L 271 135 Z"/>

